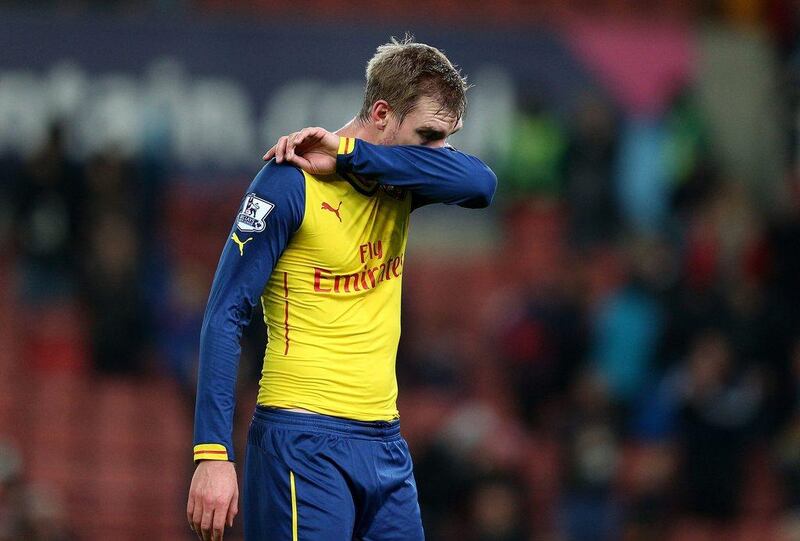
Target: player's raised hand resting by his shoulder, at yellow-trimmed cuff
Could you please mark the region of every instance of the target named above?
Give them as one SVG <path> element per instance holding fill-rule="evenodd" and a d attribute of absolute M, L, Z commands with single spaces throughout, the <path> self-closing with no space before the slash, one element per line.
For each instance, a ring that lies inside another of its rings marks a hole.
<path fill-rule="evenodd" d="M 324 128 L 304 128 L 279 138 L 263 159 L 274 157 L 278 163 L 286 161 L 312 175 L 330 175 L 336 172 L 338 150 L 339 136 L 335 133 Z"/>

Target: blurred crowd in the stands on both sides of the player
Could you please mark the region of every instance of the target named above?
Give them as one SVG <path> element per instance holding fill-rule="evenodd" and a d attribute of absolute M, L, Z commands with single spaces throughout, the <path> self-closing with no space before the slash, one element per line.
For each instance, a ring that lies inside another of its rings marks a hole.
<path fill-rule="evenodd" d="M 784 38 L 797 118 L 800 44 Z M 800 539 L 796 128 L 783 178 L 760 185 L 713 157 L 692 88 L 658 122 L 628 120 L 600 96 L 568 117 L 527 99 L 492 163 L 495 248 L 409 265 L 400 406 L 430 539 Z M 145 157 L 73 161 L 63 128 L 0 159 L 25 362 L 173 378 L 189 424 L 205 297 L 247 180 L 187 194 Z M 65 332 L 77 353 L 41 354 Z M 264 339 L 245 336 L 250 393 Z M 79 538 L 23 465 L 0 449 L 0 540 Z"/>

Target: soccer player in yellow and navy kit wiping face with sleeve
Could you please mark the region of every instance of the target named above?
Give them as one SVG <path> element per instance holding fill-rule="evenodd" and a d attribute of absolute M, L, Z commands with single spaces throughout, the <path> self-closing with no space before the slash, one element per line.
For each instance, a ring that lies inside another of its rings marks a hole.
<path fill-rule="evenodd" d="M 400 288 L 413 209 L 481 208 L 494 195 L 494 173 L 446 145 L 466 90 L 439 50 L 392 40 L 368 63 L 352 121 L 282 137 L 265 155 L 203 321 L 187 504 L 201 539 L 221 539 L 238 510 L 239 339 L 259 301 L 268 343 L 245 457 L 246 539 L 424 538 L 396 407 Z"/>

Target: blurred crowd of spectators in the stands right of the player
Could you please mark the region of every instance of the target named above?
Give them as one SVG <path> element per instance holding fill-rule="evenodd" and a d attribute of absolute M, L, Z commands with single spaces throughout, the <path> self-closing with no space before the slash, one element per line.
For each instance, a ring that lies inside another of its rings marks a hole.
<path fill-rule="evenodd" d="M 544 115 L 472 305 L 422 312 L 409 271 L 403 388 L 464 402 L 416 454 L 432 538 L 800 538 L 800 179 L 767 211 L 698 137 L 653 226 L 615 196 L 611 111 Z"/>

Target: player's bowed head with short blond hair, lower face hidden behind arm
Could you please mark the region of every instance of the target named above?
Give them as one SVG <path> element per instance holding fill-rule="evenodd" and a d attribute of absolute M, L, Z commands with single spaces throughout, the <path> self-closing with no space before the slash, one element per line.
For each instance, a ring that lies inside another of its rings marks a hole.
<path fill-rule="evenodd" d="M 380 144 L 442 146 L 461 127 L 467 81 L 438 49 L 407 35 L 378 47 L 367 64 L 358 118 Z"/>

